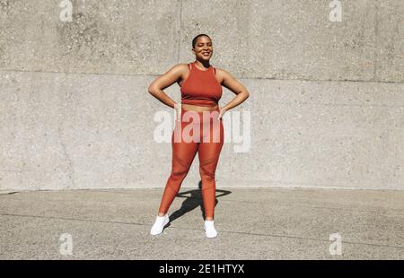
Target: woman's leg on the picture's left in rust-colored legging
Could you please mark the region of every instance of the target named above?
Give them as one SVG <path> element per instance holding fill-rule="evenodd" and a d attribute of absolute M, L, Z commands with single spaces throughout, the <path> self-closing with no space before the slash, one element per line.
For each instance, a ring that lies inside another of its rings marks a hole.
<path fill-rule="evenodd" d="M 187 176 L 192 161 L 194 160 L 195 155 L 198 151 L 198 142 L 189 142 L 189 140 L 184 140 L 184 138 L 182 137 L 182 130 L 184 130 L 184 128 L 188 125 L 192 125 L 192 123 L 177 121 L 175 129 L 172 132 L 171 175 L 170 178 L 168 178 L 167 180 L 164 193 L 162 194 L 162 202 L 160 204 L 158 214 L 159 216 L 167 213 L 172 201 L 180 191 L 182 180 Z M 176 133 L 180 133 L 180 137 L 175 137 Z M 177 140 L 177 138 L 180 138 L 180 140 Z"/>

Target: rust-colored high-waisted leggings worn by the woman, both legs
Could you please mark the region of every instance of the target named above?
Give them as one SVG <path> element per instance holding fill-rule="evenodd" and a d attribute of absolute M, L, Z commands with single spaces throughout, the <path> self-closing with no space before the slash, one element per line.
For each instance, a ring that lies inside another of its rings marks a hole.
<path fill-rule="evenodd" d="M 203 112 L 181 109 L 180 120 L 176 120 L 172 131 L 171 175 L 162 195 L 159 213 L 167 213 L 198 152 L 205 217 L 213 219 L 215 170 L 224 144 L 224 127 L 222 119 L 217 119 L 218 115 L 218 108 Z"/>

